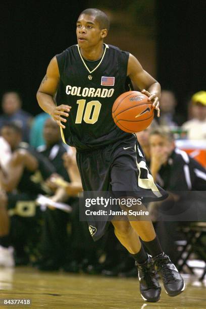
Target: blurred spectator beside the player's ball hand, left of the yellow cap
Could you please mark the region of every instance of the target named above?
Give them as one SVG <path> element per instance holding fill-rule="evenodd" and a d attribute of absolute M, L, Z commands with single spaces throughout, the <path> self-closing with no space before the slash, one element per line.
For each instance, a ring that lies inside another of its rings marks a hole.
<path fill-rule="evenodd" d="M 160 99 L 160 117 L 156 120 L 161 126 L 170 128 L 182 125 L 183 118 L 175 112 L 177 100 L 172 91 L 162 90 Z"/>

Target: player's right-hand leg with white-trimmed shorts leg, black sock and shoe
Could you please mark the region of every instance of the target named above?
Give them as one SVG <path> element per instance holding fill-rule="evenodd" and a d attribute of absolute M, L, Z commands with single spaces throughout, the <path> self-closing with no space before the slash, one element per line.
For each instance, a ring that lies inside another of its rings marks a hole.
<path fill-rule="evenodd" d="M 126 192 L 127 196 L 143 196 L 147 200 L 158 199 L 157 196 L 162 198 L 165 192 L 153 182 L 140 149 L 136 151 L 136 147 L 134 149 L 129 147 L 126 150 L 126 153 L 122 150 L 122 156 L 120 152 L 118 153 L 111 171 L 114 193 L 117 195 L 122 191 L 124 194 Z M 143 205 L 142 210 L 144 210 Z M 163 278 L 166 292 L 170 296 L 181 293 L 184 290 L 184 281 L 168 256 L 164 254 L 151 221 L 135 220 L 130 224 L 152 254 L 156 269 Z"/>

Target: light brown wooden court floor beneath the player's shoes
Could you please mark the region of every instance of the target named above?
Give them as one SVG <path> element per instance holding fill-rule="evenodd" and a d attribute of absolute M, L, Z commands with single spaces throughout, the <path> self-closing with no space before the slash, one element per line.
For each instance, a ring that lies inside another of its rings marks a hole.
<path fill-rule="evenodd" d="M 29 267 L 14 270 L 0 268 L 0 308 L 68 308 L 68 309 L 191 309 L 206 308 L 206 282 L 184 276 L 185 291 L 169 297 L 162 290 L 156 303 L 145 302 L 139 294 L 137 278 L 40 272 Z M 3 299 L 28 299 L 32 304 L 3 305 Z"/>

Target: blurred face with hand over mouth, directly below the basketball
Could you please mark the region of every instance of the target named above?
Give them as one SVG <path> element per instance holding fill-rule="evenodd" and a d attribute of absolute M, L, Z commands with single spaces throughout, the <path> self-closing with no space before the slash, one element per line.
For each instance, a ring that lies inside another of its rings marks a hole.
<path fill-rule="evenodd" d="M 167 140 L 166 137 L 153 134 L 149 137 L 150 152 L 162 153 L 162 155 L 170 156 L 174 149 L 174 142 Z"/>

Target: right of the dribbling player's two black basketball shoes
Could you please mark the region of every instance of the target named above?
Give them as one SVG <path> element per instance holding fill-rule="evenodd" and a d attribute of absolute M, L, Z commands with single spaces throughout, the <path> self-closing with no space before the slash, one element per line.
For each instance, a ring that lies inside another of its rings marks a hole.
<path fill-rule="evenodd" d="M 177 296 L 185 289 L 185 283 L 175 265 L 165 253 L 153 258 L 155 269 L 163 280 L 166 293 Z"/>

